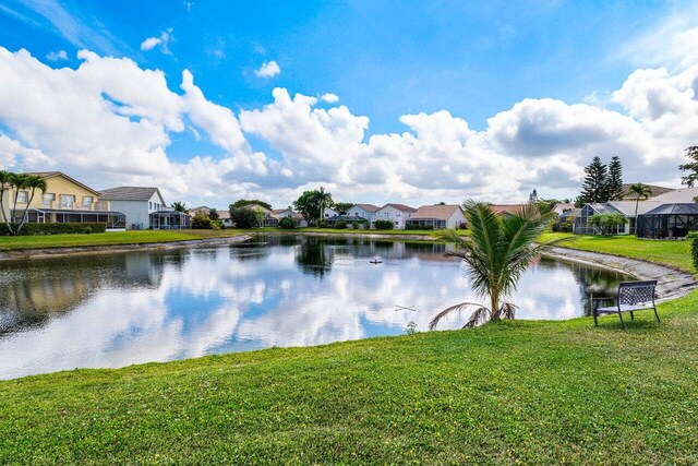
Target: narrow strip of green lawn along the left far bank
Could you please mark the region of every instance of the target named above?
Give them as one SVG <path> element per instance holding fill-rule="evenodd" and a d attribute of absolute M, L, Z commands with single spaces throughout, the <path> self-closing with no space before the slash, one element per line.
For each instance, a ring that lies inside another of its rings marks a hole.
<path fill-rule="evenodd" d="M 220 236 L 237 236 L 242 232 L 243 231 L 240 230 L 143 230 L 89 235 L 3 236 L 0 237 L 0 251 L 85 246 L 144 244 Z"/>

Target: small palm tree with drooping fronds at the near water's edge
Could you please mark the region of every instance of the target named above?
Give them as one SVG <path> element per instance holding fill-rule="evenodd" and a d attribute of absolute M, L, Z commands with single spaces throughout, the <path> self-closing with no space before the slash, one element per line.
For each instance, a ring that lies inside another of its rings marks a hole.
<path fill-rule="evenodd" d="M 490 306 L 461 302 L 444 309 L 430 323 L 438 322 L 454 311 L 474 307 L 465 327 L 488 320 L 514 319 L 516 306 L 505 301 L 516 289 L 518 279 L 532 260 L 568 238 L 538 242 L 541 234 L 553 220 L 552 214 L 541 214 L 533 204 L 516 215 L 497 215 L 490 205 L 466 201 L 464 204 L 470 237 L 462 238 L 454 230 L 444 230 L 437 237 L 452 241 L 457 249 L 447 255 L 462 259 L 469 266 L 474 291 L 488 298 Z"/>

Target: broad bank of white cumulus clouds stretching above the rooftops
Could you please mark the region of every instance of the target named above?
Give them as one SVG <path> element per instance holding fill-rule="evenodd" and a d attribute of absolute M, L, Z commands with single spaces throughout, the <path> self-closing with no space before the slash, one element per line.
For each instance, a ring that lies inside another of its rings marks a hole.
<path fill-rule="evenodd" d="M 171 200 L 218 205 L 242 195 L 288 205 L 321 184 L 347 201 L 505 202 L 534 188 L 573 195 L 594 155 L 621 156 L 627 181 L 676 184 L 683 150 L 698 140 L 698 65 L 634 72 L 609 94 L 616 110 L 525 99 L 482 131 L 441 110 L 369 135 L 366 116 L 318 106 L 336 104 L 334 94 L 277 87 L 267 105 L 233 111 L 188 70 L 173 92 L 161 71 L 132 60 L 77 58 L 76 69 L 53 69 L 0 48 L 0 166 L 52 166 L 96 188 L 157 184 Z M 173 135 L 185 131 L 208 145 L 176 159 Z"/>

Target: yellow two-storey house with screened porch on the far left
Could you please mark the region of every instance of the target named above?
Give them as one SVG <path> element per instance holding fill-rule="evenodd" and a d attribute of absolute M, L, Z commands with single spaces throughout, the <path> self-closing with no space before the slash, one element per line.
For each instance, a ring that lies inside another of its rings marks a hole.
<path fill-rule="evenodd" d="M 46 181 L 47 190 L 35 192 L 31 199 L 31 191 L 5 189 L 3 208 L 12 218 L 19 220 L 26 211 L 29 223 L 106 223 L 108 230 L 122 230 L 125 227 L 125 216 L 112 211 L 108 200 L 101 199 L 101 193 L 61 171 L 34 171 L 24 175 L 40 177 Z M 14 195 L 17 194 L 16 211 Z M 10 201 L 12 200 L 12 202 Z"/>

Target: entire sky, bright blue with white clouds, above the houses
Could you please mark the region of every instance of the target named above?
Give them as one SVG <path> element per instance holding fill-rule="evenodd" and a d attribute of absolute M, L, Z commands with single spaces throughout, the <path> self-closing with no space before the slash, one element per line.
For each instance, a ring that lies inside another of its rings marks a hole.
<path fill-rule="evenodd" d="M 0 0 L 0 168 L 95 189 L 520 202 L 689 145 L 696 2 Z"/>

